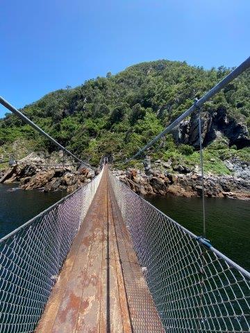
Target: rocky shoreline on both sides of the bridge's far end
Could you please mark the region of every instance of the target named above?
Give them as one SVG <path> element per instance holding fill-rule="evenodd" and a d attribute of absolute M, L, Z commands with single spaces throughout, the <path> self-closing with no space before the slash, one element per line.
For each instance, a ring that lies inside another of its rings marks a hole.
<path fill-rule="evenodd" d="M 210 198 L 237 198 L 250 200 L 250 163 L 226 160 L 231 175 L 204 176 L 205 196 Z M 114 169 L 113 173 L 133 191 L 142 195 L 195 197 L 201 196 L 202 184 L 199 167 L 189 169 L 184 165 L 156 160 L 144 163 L 144 169 Z M 63 161 L 62 153 L 49 156 L 31 153 L 19 164 L 0 171 L 0 182 L 18 182 L 22 189 L 50 191 L 74 191 L 90 182 L 94 172 L 86 168 L 77 169 L 71 160 Z"/>

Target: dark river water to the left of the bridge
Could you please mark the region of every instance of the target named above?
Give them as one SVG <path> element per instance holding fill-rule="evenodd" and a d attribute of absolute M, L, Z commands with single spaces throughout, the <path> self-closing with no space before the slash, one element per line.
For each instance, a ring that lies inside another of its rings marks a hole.
<path fill-rule="evenodd" d="M 62 192 L 25 191 L 17 186 L 0 184 L 0 238 L 62 198 Z"/>

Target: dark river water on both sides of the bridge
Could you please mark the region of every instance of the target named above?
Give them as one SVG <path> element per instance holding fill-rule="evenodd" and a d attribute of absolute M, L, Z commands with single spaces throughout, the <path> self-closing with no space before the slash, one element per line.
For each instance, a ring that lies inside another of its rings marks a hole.
<path fill-rule="evenodd" d="M 0 184 L 0 238 L 62 198 L 61 192 L 24 191 Z M 202 234 L 201 198 L 147 197 L 150 203 L 188 228 Z M 250 270 L 250 203 L 206 198 L 206 229 L 211 244 Z"/>

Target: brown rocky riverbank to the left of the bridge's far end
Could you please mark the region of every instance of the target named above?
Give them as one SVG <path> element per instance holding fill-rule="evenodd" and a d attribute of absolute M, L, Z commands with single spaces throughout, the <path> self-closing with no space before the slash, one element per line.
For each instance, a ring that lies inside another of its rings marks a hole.
<path fill-rule="evenodd" d="M 0 171 L 1 183 L 17 182 L 21 189 L 42 189 L 44 192 L 71 193 L 93 177 L 93 171 L 78 168 L 69 158 L 63 159 L 61 152 L 48 156 L 31 153 L 13 167 Z"/>

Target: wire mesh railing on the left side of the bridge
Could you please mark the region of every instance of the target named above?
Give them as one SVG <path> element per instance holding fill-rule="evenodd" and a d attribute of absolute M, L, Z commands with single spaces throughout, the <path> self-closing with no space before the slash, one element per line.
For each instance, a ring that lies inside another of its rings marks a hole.
<path fill-rule="evenodd" d="M 0 240 L 0 332 L 33 332 L 102 171 Z"/>

